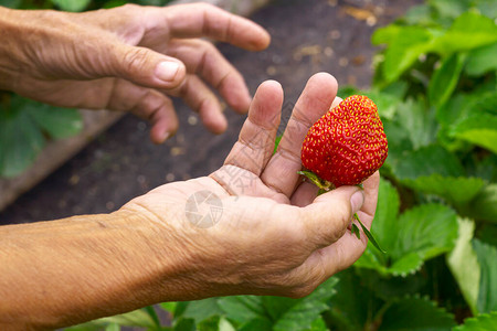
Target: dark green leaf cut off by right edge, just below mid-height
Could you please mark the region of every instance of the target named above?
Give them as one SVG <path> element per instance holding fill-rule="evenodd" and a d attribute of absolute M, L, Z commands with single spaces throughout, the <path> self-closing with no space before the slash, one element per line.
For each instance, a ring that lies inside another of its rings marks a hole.
<path fill-rule="evenodd" d="M 465 214 L 497 224 L 497 184 L 485 186 L 468 204 Z"/>

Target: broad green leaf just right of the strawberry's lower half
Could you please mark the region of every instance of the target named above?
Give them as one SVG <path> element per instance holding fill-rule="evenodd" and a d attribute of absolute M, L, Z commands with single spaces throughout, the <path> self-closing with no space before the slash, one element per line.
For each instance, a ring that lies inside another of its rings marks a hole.
<path fill-rule="evenodd" d="M 448 152 L 442 146 L 431 145 L 408 152 L 399 160 L 393 169 L 398 179 L 416 179 L 434 173 L 441 177 L 464 177 L 464 168 L 455 154 Z"/>

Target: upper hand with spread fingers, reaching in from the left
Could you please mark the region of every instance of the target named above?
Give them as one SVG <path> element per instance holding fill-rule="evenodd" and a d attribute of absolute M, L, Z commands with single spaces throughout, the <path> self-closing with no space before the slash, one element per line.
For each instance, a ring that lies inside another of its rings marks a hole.
<path fill-rule="evenodd" d="M 242 75 L 205 36 L 250 51 L 267 32 L 209 4 L 128 4 L 85 13 L 0 7 L 0 89 L 64 107 L 131 111 L 152 124 L 151 140 L 172 135 L 169 96 L 181 97 L 213 132 L 228 124 L 213 86 L 235 111 L 251 97 Z"/>

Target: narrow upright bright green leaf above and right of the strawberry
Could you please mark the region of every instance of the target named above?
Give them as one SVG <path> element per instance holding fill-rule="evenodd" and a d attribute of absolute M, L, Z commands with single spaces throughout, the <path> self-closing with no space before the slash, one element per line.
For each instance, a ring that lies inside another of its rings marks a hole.
<path fill-rule="evenodd" d="M 442 65 L 433 73 L 429 85 L 430 104 L 436 108 L 447 102 L 459 81 L 461 72 L 467 55 L 454 53 L 442 62 Z"/>

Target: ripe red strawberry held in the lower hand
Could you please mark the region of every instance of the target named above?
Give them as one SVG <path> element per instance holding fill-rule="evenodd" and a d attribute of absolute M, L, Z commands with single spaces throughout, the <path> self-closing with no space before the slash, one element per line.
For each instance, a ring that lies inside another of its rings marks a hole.
<path fill-rule="evenodd" d="M 360 184 L 380 169 L 387 154 L 387 136 L 377 105 L 366 96 L 353 95 L 309 129 L 302 162 L 338 188 Z"/>

